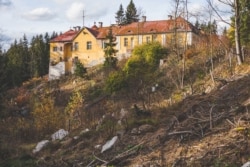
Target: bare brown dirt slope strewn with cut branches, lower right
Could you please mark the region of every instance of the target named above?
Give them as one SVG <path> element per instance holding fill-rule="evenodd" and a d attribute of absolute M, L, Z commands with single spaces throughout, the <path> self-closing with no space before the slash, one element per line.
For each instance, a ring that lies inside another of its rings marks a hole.
<path fill-rule="evenodd" d="M 35 155 L 38 166 L 241 166 L 249 161 L 250 75 L 234 78 L 209 94 L 187 97 L 158 113 L 157 125 L 119 132 L 115 145 L 87 132 L 51 143 Z"/>

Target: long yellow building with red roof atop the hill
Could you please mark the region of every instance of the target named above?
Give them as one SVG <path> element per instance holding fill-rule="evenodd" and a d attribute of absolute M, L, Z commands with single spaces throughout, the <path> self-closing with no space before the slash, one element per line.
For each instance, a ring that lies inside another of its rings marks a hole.
<path fill-rule="evenodd" d="M 74 62 L 80 60 L 85 67 L 92 67 L 104 62 L 104 44 L 109 29 L 112 28 L 118 50 L 118 59 L 129 57 L 133 48 L 143 43 L 158 41 L 163 46 L 171 47 L 195 45 L 198 30 L 185 19 L 178 17 L 168 20 L 147 21 L 143 16 L 140 22 L 128 25 L 111 25 L 103 27 L 96 23 L 91 27 L 74 27 L 50 41 L 50 62 L 65 64 L 64 72 L 72 73 Z M 63 67 L 62 67 L 63 68 Z"/>

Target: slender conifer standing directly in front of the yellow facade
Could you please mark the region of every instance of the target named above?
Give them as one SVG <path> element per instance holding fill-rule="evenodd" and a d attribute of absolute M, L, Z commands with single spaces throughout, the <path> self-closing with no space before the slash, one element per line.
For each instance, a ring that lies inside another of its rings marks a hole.
<path fill-rule="evenodd" d="M 104 47 L 104 57 L 105 57 L 105 62 L 104 62 L 104 67 L 107 68 L 116 68 L 117 65 L 117 58 L 116 58 L 116 53 L 118 50 L 115 49 L 116 43 L 113 32 L 112 32 L 112 26 L 109 28 L 108 35 L 106 36 L 107 42 L 105 43 Z"/>

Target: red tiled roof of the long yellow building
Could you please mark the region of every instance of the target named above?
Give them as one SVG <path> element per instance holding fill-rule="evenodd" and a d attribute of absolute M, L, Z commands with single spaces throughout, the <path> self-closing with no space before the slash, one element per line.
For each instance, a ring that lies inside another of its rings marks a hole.
<path fill-rule="evenodd" d="M 173 32 L 174 27 L 177 27 L 177 31 L 193 31 L 197 32 L 197 29 L 185 19 L 178 17 L 170 20 L 158 20 L 158 21 L 143 21 L 134 22 L 128 25 L 115 25 L 112 27 L 112 33 L 115 36 L 122 35 L 138 35 L 138 34 L 152 34 L 152 33 L 168 33 Z M 97 27 L 96 25 L 87 29 L 96 39 L 105 39 L 110 27 Z M 70 42 L 80 33 L 79 30 L 69 30 L 62 35 L 51 40 L 51 42 Z"/>

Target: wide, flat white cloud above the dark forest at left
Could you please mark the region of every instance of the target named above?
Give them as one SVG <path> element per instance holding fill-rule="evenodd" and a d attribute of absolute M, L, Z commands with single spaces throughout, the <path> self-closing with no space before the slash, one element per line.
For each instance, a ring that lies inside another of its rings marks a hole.
<path fill-rule="evenodd" d="M 55 17 L 55 13 L 48 8 L 36 8 L 22 15 L 24 18 L 33 21 L 51 20 Z"/>

